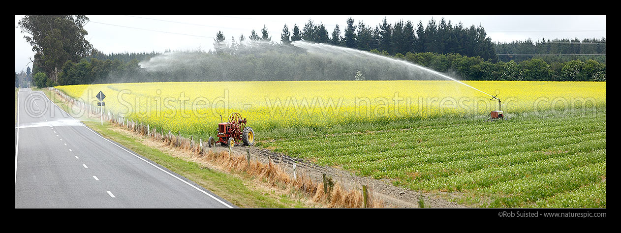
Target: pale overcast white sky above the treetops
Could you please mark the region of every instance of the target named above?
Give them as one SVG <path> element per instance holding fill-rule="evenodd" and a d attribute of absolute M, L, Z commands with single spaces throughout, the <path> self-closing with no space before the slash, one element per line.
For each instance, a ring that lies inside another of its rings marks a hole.
<path fill-rule="evenodd" d="M 604 38 L 606 36 L 606 15 L 86 15 L 90 22 L 84 26 L 86 39 L 103 53 L 163 52 L 165 50 L 212 49 L 214 37 L 221 31 L 227 42 L 240 35 L 248 39 L 250 32 L 261 36 L 264 25 L 273 42 L 280 42 L 283 26 L 302 29 L 312 20 L 315 25 L 324 24 L 331 34 L 338 24 L 345 32 L 347 19 L 351 17 L 373 29 L 384 17 L 389 24 L 399 20 L 410 20 L 414 25 L 422 21 L 427 25 L 430 19 L 440 22 L 442 17 L 451 24 L 461 22 L 465 27 L 483 25 L 487 36 L 493 42 L 517 40 L 540 40 L 542 38 Z M 20 33 L 17 22 L 24 15 L 15 15 L 15 71 L 32 69 L 29 63 L 34 52 Z"/>

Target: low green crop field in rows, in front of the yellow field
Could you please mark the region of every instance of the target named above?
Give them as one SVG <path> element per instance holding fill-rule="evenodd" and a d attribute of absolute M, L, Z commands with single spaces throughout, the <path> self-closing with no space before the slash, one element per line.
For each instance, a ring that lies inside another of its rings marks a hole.
<path fill-rule="evenodd" d="M 434 122 L 435 121 L 435 122 Z M 605 208 L 605 113 L 274 138 L 261 146 L 486 207 Z"/>

